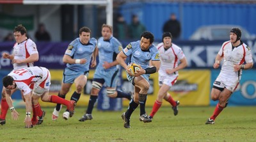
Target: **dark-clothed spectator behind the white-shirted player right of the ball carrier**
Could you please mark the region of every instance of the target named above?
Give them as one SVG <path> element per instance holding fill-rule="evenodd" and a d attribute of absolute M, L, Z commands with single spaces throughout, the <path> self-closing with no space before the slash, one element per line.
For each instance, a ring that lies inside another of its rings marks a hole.
<path fill-rule="evenodd" d="M 177 39 L 180 36 L 180 22 L 177 20 L 175 13 L 170 15 L 170 20 L 167 20 L 163 26 L 163 32 L 172 33 L 173 39 Z"/>

